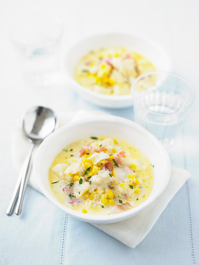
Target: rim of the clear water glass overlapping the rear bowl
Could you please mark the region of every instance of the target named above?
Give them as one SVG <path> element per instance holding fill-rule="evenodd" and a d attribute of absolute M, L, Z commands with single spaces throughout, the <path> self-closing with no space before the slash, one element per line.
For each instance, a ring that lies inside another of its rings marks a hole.
<path fill-rule="evenodd" d="M 176 112 L 173 112 L 173 113 L 158 113 L 158 112 L 155 112 L 155 111 L 151 111 L 145 107 L 143 107 L 142 105 L 140 105 L 139 103 L 137 103 L 135 101 L 135 98 L 134 98 L 134 92 L 133 92 L 133 89 L 135 87 L 135 84 L 143 77 L 143 76 L 149 76 L 149 75 L 152 75 L 152 74 L 168 74 L 169 76 L 174 76 L 174 77 L 177 77 L 179 79 L 181 79 L 182 81 L 184 81 L 185 83 L 187 83 L 187 85 L 189 86 L 189 88 L 191 89 L 192 91 L 192 98 L 191 100 L 189 101 L 187 107 L 185 107 L 182 111 L 176 111 Z M 134 105 L 137 104 L 141 109 L 143 110 L 146 110 L 147 112 L 149 113 L 153 113 L 153 114 L 157 114 L 157 115 L 165 115 L 165 116 L 170 116 L 170 115 L 175 115 L 175 114 L 179 114 L 179 113 L 182 113 L 182 112 L 185 112 L 189 107 L 191 107 L 192 103 L 193 103 L 193 100 L 194 100 L 194 97 L 195 97 L 195 91 L 192 87 L 192 85 L 184 78 L 184 77 L 181 77 L 179 76 L 178 74 L 175 74 L 175 73 L 171 73 L 171 72 L 166 72 L 166 71 L 150 71 L 150 72 L 146 72 L 146 73 L 143 73 L 141 74 L 140 76 L 138 76 L 132 83 L 131 85 L 131 95 L 132 95 L 132 99 L 134 101 Z"/>

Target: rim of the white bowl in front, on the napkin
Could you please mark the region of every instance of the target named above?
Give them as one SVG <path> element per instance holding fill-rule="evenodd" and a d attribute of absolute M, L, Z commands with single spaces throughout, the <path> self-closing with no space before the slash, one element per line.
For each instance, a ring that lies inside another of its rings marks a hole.
<path fill-rule="evenodd" d="M 142 204 L 136 206 L 135 208 L 132 208 L 128 211 L 124 211 L 122 213 L 117 213 L 117 214 L 112 214 L 112 215 L 94 215 L 94 214 L 84 214 L 80 213 L 78 211 L 72 210 L 68 208 L 67 206 L 64 206 L 61 204 L 58 200 L 56 200 L 46 189 L 45 185 L 42 182 L 41 175 L 39 173 L 39 161 L 41 160 L 40 153 L 42 149 L 45 149 L 45 146 L 48 145 L 49 142 L 55 141 L 57 137 L 59 137 L 60 132 L 62 131 L 67 131 L 74 126 L 84 124 L 86 122 L 96 122 L 96 121 L 109 121 L 109 122 L 116 122 L 120 123 L 121 125 L 131 125 L 132 128 L 138 129 L 142 131 L 145 135 L 147 135 L 159 148 L 165 162 L 165 172 L 163 174 L 162 182 L 157 191 L 154 192 L 154 194 L 147 198 L 146 201 L 144 201 Z M 163 145 L 158 141 L 158 139 L 151 134 L 149 131 L 147 131 L 145 128 L 142 126 L 138 125 L 137 123 L 128 120 L 126 118 L 118 117 L 118 116 L 112 116 L 112 115 L 102 115 L 102 116 L 96 116 L 96 117 L 90 117 L 86 118 L 81 121 L 74 121 L 70 122 L 62 127 L 60 127 L 58 130 L 54 131 L 51 135 L 49 135 L 39 146 L 36 156 L 34 158 L 34 174 L 35 178 L 37 180 L 37 183 L 39 185 L 39 188 L 41 189 L 42 193 L 53 203 L 55 204 L 58 208 L 63 210 L 65 213 L 71 215 L 74 218 L 80 219 L 85 222 L 90 222 L 90 223 L 113 223 L 113 222 L 118 222 L 120 220 L 128 219 L 135 214 L 139 213 L 141 210 L 143 210 L 145 207 L 147 207 L 149 204 L 151 204 L 154 200 L 156 200 L 161 193 L 165 190 L 167 187 L 167 184 L 169 183 L 170 176 L 171 176 L 171 162 L 168 153 L 166 152 L 165 148 Z"/>

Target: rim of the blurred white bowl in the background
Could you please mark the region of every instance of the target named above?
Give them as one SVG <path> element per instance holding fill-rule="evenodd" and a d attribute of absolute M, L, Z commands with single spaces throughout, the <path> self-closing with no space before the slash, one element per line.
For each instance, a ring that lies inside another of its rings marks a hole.
<path fill-rule="evenodd" d="M 75 42 L 73 45 L 71 45 L 67 49 L 67 52 L 65 53 L 65 56 L 63 57 L 64 58 L 64 60 L 63 60 L 63 73 L 64 73 L 64 75 L 68 77 L 70 83 L 74 84 L 74 86 L 78 87 L 80 90 L 82 90 L 82 92 L 89 93 L 92 96 L 98 96 L 98 98 L 100 98 L 101 100 L 112 100 L 114 102 L 132 100 L 131 93 L 128 95 L 116 96 L 116 95 L 105 95 L 105 94 L 101 94 L 101 93 L 92 91 L 92 90 L 82 86 L 81 84 L 79 84 L 67 70 L 67 67 L 66 67 L 67 57 L 69 56 L 71 50 L 73 50 L 74 46 L 81 45 L 82 42 L 89 41 L 89 39 L 91 39 L 91 38 L 100 38 L 100 37 L 109 37 L 109 36 L 136 37 L 136 38 L 141 39 L 142 41 L 148 42 L 150 45 L 152 45 L 153 47 L 158 49 L 161 52 L 161 54 L 164 55 L 165 58 L 167 58 L 167 62 L 166 62 L 167 68 L 171 69 L 171 59 L 170 59 L 169 55 L 167 54 L 166 50 L 164 48 L 162 48 L 157 42 L 155 42 L 154 40 L 152 40 L 150 38 L 143 37 L 140 34 L 136 34 L 136 33 L 129 34 L 129 33 L 122 33 L 122 32 L 106 32 L 106 33 L 99 33 L 99 34 L 95 34 L 95 35 L 89 35 L 89 36 L 82 38 L 79 41 Z"/>

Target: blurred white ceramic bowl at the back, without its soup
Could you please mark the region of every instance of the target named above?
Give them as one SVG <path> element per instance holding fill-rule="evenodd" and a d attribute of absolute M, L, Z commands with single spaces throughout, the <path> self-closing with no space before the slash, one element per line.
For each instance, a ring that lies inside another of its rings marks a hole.
<path fill-rule="evenodd" d="M 144 55 L 154 64 L 156 70 L 164 70 L 166 72 L 171 70 L 170 59 L 166 52 L 159 47 L 157 43 L 145 38 L 128 34 L 112 33 L 92 36 L 79 41 L 68 50 L 67 55 L 64 57 L 63 72 L 67 81 L 82 98 L 101 107 L 118 109 L 133 105 L 131 95 L 111 96 L 100 94 L 83 87 L 74 80 L 73 71 L 78 60 L 90 50 L 96 50 L 101 47 L 125 47 Z"/>

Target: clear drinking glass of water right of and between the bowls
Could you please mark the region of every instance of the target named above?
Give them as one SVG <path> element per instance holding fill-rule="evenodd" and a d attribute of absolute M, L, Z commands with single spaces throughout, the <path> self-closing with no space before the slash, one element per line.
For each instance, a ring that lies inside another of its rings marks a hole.
<path fill-rule="evenodd" d="M 152 71 L 132 83 L 135 122 L 170 147 L 194 99 L 192 86 L 176 74 Z"/>

